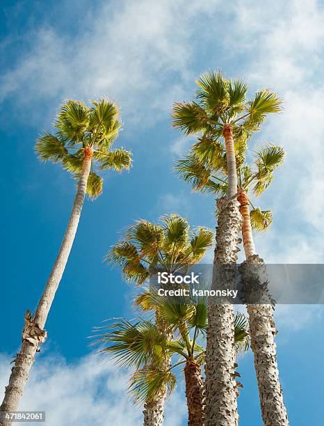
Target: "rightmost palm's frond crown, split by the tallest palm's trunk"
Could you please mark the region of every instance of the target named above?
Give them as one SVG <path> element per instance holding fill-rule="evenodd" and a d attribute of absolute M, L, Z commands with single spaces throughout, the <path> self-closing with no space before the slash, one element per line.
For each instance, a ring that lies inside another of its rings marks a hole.
<path fill-rule="evenodd" d="M 225 148 L 218 146 L 217 155 L 213 155 L 215 145 L 207 140 L 199 141 L 184 159 L 177 161 L 175 169 L 179 176 L 192 185 L 195 191 L 209 194 L 225 194 L 227 191 L 227 162 Z M 275 169 L 282 166 L 284 150 L 282 147 L 266 143 L 264 147 L 254 152 L 250 164 L 245 159 L 246 143 L 238 141 L 235 144 L 238 186 L 246 193 L 260 196 L 273 180 Z M 254 230 L 266 230 L 273 215 L 270 210 L 254 207 L 250 201 L 251 225 Z"/>

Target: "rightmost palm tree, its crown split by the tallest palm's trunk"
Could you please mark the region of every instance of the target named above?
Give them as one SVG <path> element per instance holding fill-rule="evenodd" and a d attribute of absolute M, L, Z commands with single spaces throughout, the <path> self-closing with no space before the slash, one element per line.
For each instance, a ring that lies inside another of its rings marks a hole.
<path fill-rule="evenodd" d="M 210 149 L 213 149 L 212 146 Z M 203 152 L 204 156 L 202 155 Z M 203 150 L 199 143 L 194 145 L 190 154 L 177 162 L 177 172 L 186 182 L 191 182 L 195 190 L 222 194 L 227 188 L 225 150 L 222 153 L 222 161 L 218 161 L 218 164 L 212 164 L 206 152 L 208 152 L 207 144 L 204 145 Z M 273 215 L 270 210 L 262 211 L 259 207 L 254 207 L 248 196 L 249 192 L 252 192 L 254 196 L 260 196 L 269 187 L 275 169 L 283 163 L 284 150 L 280 146 L 268 143 L 254 152 L 254 159 L 251 164 L 245 162 L 244 152 L 243 144 L 236 146 L 238 201 L 243 216 L 242 237 L 246 259 L 245 265 L 241 267 L 241 274 L 243 275 L 245 290 L 248 290 L 249 281 L 251 283 L 257 279 L 259 291 L 255 287 L 253 288 L 254 297 L 265 298 L 263 303 L 251 303 L 251 299 L 249 300 L 249 297 L 247 297 L 251 347 L 254 353 L 254 365 L 264 424 L 285 426 L 289 423 L 277 368 L 274 342 L 277 331 L 273 321 L 273 305 L 270 295 L 266 291 L 266 283 L 260 282 L 260 278 L 255 276 L 258 272 L 257 265 L 262 264 L 263 260 L 255 251 L 252 236 L 252 229 L 266 230 L 270 226 Z M 254 267 L 249 269 L 247 263 L 254 265 Z M 254 278 L 254 280 L 251 278 Z"/>

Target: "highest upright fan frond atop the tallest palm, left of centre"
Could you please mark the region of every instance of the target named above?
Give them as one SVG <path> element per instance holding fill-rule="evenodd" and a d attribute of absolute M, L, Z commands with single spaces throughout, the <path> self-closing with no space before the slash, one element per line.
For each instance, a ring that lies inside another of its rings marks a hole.
<path fill-rule="evenodd" d="M 196 81 L 200 89 L 197 98 L 201 100 L 204 108 L 219 116 L 230 102 L 228 82 L 219 71 L 205 72 Z"/>

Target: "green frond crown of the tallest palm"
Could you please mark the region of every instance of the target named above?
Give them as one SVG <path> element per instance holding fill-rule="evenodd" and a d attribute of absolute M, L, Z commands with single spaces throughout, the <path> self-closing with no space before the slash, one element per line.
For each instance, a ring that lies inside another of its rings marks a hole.
<path fill-rule="evenodd" d="M 207 137 L 216 142 L 223 127 L 231 125 L 235 139 L 246 139 L 260 129 L 268 113 L 281 110 L 275 93 L 260 90 L 253 100 L 247 100 L 247 84 L 225 79 L 220 71 L 206 72 L 196 83 L 196 100 L 175 102 L 172 110 L 172 125 L 186 135 L 201 132 L 202 140 Z"/>

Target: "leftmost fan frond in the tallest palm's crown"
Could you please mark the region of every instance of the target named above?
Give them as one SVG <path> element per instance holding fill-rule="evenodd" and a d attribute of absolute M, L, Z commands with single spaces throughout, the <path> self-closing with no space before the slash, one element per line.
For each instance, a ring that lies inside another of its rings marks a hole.
<path fill-rule="evenodd" d="M 172 107 L 172 126 L 184 134 L 197 134 L 209 123 L 206 111 L 196 102 L 175 102 Z"/>

